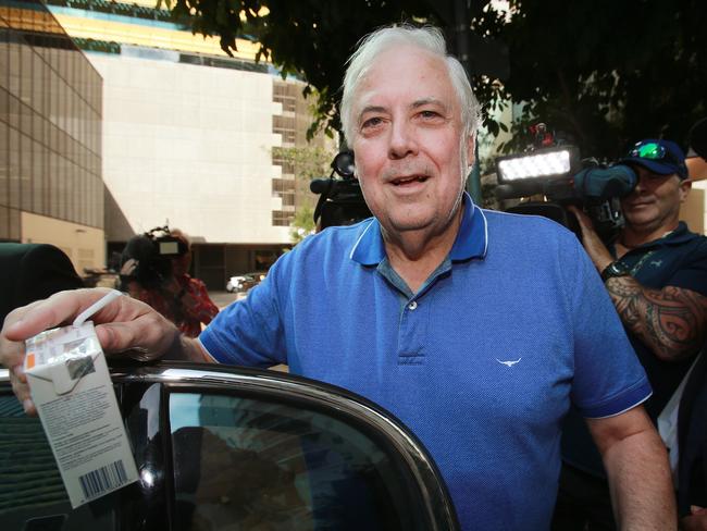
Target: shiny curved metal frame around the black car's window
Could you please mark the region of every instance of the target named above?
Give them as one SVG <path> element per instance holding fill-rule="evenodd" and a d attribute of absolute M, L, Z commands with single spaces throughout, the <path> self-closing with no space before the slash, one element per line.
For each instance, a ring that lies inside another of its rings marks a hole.
<path fill-rule="evenodd" d="M 174 514 L 174 470 L 171 466 L 172 448 L 169 425 L 169 394 L 172 392 L 198 393 L 222 391 L 240 397 L 255 397 L 315 410 L 342 420 L 362 431 L 376 442 L 395 466 L 410 473 L 415 507 L 431 531 L 458 530 L 457 514 L 446 483 L 434 460 L 422 443 L 395 416 L 372 402 L 344 388 L 278 371 L 236 366 L 214 366 L 193 362 L 158 362 L 140 366 L 131 371 L 113 372 L 123 385 L 131 382 L 161 383 L 160 430 L 164 452 L 165 495 L 170 515 Z M 228 390 L 224 386 L 233 386 Z M 169 445 L 169 447 L 168 447 Z M 169 468 L 169 471 L 168 471 Z"/>

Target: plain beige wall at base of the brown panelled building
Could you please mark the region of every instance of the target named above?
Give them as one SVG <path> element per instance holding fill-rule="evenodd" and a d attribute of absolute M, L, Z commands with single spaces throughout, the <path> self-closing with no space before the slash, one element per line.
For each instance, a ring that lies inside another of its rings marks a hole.
<path fill-rule="evenodd" d="M 71 258 L 74 269 L 80 275 L 85 269 L 100 269 L 106 263 L 103 231 L 69 221 L 21 213 L 23 244 L 52 244 Z"/>

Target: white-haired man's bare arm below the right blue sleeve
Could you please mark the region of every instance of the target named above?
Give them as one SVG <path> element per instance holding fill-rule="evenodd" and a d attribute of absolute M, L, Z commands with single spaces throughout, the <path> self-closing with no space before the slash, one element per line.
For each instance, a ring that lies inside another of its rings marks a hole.
<path fill-rule="evenodd" d="M 587 424 L 604 459 L 619 529 L 677 529 L 668 454 L 643 406 Z"/>

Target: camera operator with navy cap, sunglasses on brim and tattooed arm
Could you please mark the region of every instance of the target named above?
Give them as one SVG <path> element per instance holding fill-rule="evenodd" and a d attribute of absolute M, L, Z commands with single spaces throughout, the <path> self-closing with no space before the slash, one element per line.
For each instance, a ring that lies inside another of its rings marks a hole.
<path fill-rule="evenodd" d="M 646 411 L 659 427 L 674 467 L 677 434 L 659 419 L 670 418 L 672 410 L 666 406 L 679 402 L 671 398 L 705 342 L 707 238 L 679 221 L 691 180 L 677 144 L 640 141 L 619 163 L 631 166 L 638 181 L 621 200 L 625 225 L 608 247 L 586 214 L 574 207 L 570 210 L 646 370 L 654 390 Z M 573 412 L 566 422 L 554 528 L 586 529 L 588 522 L 588 529 L 612 529 L 604 469 L 582 424 Z"/>

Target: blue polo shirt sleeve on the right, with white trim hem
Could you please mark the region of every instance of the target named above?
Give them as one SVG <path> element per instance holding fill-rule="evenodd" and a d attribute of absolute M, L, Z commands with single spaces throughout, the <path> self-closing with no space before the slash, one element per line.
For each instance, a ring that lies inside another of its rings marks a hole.
<path fill-rule="evenodd" d="M 563 270 L 574 288 L 570 294 L 574 330 L 574 380 L 571 397 L 585 418 L 619 415 L 652 394 L 643 366 L 623 330 L 596 268 L 574 238 L 572 263 Z M 567 274 L 567 273 L 566 273 Z"/>

